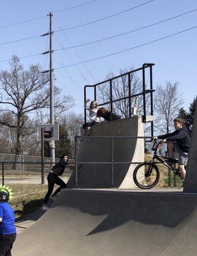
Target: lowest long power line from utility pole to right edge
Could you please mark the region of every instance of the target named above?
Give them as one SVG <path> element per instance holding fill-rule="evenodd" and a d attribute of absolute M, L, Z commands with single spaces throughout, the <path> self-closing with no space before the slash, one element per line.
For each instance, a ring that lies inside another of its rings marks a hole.
<path fill-rule="evenodd" d="M 87 61 L 84 61 L 84 62 L 75 63 L 75 65 L 80 65 L 80 64 L 87 63 L 87 62 L 91 62 L 91 61 L 94 61 L 94 60 L 100 60 L 100 59 L 107 58 L 107 57 L 110 57 L 110 56 L 113 56 L 113 55 L 116 55 L 116 54 L 119 54 L 119 53 L 122 53 L 122 52 L 130 51 L 130 50 L 133 50 L 133 49 L 142 47 L 142 46 L 144 46 L 144 45 L 152 44 L 152 43 L 154 43 L 154 42 L 158 42 L 158 41 L 160 41 L 160 40 L 169 38 L 169 37 L 171 37 L 171 36 L 179 35 L 179 34 L 181 34 L 181 33 L 184 33 L 184 32 L 186 32 L 186 31 L 189 31 L 189 30 L 194 29 L 194 28 L 197 28 L 197 26 L 194 26 L 194 27 L 192 27 L 192 28 L 188 28 L 188 29 L 179 31 L 179 32 L 177 32 L 177 33 L 174 33 L 174 34 L 171 34 L 171 35 L 168 35 L 168 36 L 164 36 L 164 37 L 158 38 L 158 39 L 156 39 L 156 40 L 147 42 L 147 43 L 145 43 L 145 44 L 140 44 L 140 45 L 137 45 L 137 46 L 135 46 L 135 47 L 131 47 L 131 48 L 129 48 L 129 49 L 125 49 L 125 50 L 123 50 L 123 51 L 113 52 L 112 54 L 107 54 L 107 55 L 105 55 L 105 56 L 101 56 L 101 57 L 98 57 L 98 58 L 94 58 L 94 59 L 92 59 L 92 60 L 87 60 Z M 68 68 L 68 67 L 73 67 L 73 65 L 67 65 L 67 66 L 63 66 L 63 67 L 64 67 L 64 68 Z M 58 68 L 54 68 L 54 69 L 60 69 L 60 68 L 62 68 L 62 67 L 58 67 Z"/>

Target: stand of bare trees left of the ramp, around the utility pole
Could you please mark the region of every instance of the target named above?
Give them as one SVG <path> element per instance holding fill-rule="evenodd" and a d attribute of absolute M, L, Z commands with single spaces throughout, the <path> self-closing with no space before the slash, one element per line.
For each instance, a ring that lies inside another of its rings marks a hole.
<path fill-rule="evenodd" d="M 28 70 L 17 56 L 10 61 L 10 70 L 0 71 L 0 153 L 40 156 L 37 125 L 50 124 L 49 76 L 41 66 Z M 78 135 L 82 116 L 68 113 L 75 106 L 71 95 L 54 86 L 55 122 L 60 124 L 60 140 L 56 142 L 56 156 L 65 150 L 73 157 L 73 136 Z M 45 156 L 48 155 L 47 143 Z"/>

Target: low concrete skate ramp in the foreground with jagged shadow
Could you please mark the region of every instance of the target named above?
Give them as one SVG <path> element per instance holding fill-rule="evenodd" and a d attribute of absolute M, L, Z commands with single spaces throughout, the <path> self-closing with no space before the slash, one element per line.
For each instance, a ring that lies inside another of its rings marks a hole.
<path fill-rule="evenodd" d="M 194 256 L 197 197 L 64 190 L 18 235 L 13 256 Z"/>

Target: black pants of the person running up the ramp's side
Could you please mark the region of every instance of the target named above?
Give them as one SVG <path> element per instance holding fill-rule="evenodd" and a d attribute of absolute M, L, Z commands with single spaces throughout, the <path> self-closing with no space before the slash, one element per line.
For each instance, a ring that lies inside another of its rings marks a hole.
<path fill-rule="evenodd" d="M 48 180 L 48 192 L 47 192 L 47 195 L 45 195 L 45 199 L 43 201 L 44 204 L 47 204 L 48 198 L 53 193 L 55 184 L 59 185 L 60 187 L 55 190 L 54 195 L 57 195 L 61 191 L 61 188 L 66 188 L 66 183 L 62 179 L 60 179 L 55 173 L 50 172 L 48 174 L 47 180 Z"/>

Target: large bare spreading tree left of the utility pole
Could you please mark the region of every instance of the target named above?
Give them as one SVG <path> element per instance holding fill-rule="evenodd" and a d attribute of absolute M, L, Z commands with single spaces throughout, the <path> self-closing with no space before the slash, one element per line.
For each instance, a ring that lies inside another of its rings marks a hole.
<path fill-rule="evenodd" d="M 24 70 L 17 56 L 13 56 L 10 67 L 10 72 L 0 72 L 0 124 L 14 129 L 15 154 L 22 154 L 24 138 L 33 134 L 36 128 L 30 117 L 35 111 L 50 107 L 49 76 L 41 73 L 40 65 L 31 65 L 29 70 Z M 59 88 L 55 87 L 54 97 L 56 115 L 73 105 L 73 99 L 61 96 Z"/>

